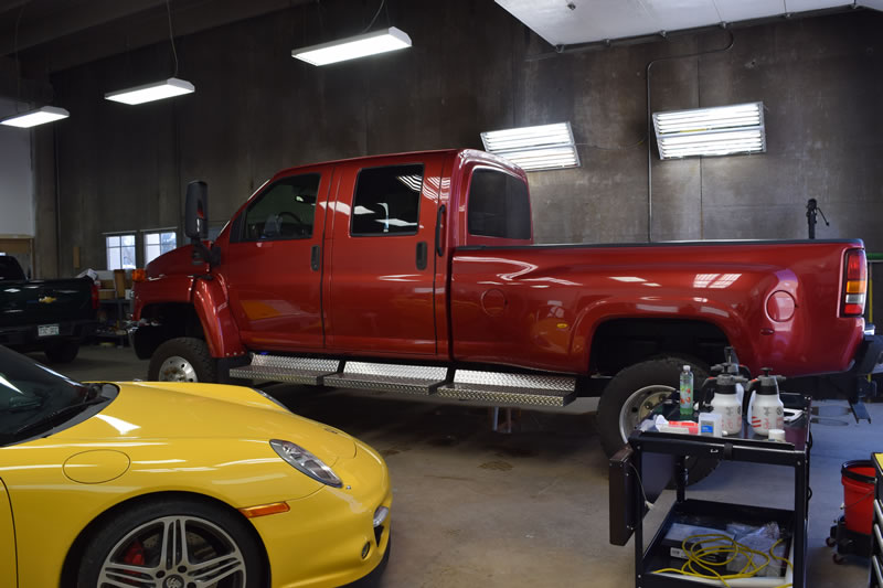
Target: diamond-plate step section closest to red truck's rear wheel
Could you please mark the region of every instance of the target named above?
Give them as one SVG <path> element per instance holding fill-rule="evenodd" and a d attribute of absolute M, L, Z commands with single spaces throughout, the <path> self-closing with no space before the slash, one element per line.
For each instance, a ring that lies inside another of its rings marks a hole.
<path fill-rule="evenodd" d="M 561 407 L 576 398 L 576 378 L 457 370 L 454 382 L 439 387 L 436 396 L 487 406 Z"/>

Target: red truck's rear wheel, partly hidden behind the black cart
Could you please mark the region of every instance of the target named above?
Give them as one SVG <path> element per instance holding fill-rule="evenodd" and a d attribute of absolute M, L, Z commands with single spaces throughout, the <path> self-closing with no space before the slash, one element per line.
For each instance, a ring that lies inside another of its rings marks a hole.
<path fill-rule="evenodd" d="M 623 368 L 607 384 L 598 402 L 598 434 L 607 456 L 619 451 L 628 436 L 657 406 L 678 391 L 684 365 L 693 372 L 698 392 L 708 377 L 708 367 L 695 360 L 664 356 Z M 709 475 L 720 463 L 716 459 L 687 459 L 688 483 Z"/>

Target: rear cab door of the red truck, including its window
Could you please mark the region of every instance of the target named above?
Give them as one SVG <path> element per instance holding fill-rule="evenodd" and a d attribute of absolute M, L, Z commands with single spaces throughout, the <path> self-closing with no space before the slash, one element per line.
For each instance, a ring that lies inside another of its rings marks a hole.
<path fill-rule="evenodd" d="M 424 154 L 342 167 L 328 274 L 330 349 L 436 355 L 442 163 Z"/>

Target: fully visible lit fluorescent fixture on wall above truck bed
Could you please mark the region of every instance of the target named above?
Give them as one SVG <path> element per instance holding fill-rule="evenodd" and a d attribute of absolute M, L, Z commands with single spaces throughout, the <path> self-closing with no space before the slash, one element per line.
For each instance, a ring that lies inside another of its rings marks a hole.
<path fill-rule="evenodd" d="M 659 159 L 766 152 L 764 103 L 653 113 Z"/>

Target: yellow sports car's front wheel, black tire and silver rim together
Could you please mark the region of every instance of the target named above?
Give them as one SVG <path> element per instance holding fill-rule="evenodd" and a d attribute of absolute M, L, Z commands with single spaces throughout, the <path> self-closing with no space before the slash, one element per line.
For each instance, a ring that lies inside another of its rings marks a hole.
<path fill-rule="evenodd" d="M 237 514 L 199 500 L 145 502 L 91 535 L 77 588 L 259 588 L 257 539 Z"/>

